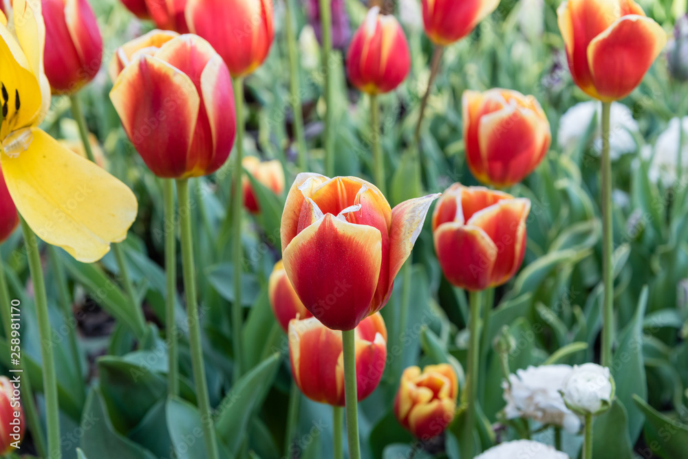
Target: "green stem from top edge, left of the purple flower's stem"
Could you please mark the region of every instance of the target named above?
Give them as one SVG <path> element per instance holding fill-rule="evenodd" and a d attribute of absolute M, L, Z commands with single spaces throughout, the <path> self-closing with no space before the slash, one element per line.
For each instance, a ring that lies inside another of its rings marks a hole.
<path fill-rule="evenodd" d="M 303 133 L 303 113 L 301 113 L 301 89 L 299 89 L 299 54 L 297 39 L 294 33 L 294 14 L 292 0 L 284 0 L 284 27 L 287 35 L 287 49 L 289 55 L 289 87 L 291 92 L 292 113 L 294 115 L 294 137 L 297 140 L 297 163 L 301 172 L 308 169 L 308 150 L 305 146 Z"/>

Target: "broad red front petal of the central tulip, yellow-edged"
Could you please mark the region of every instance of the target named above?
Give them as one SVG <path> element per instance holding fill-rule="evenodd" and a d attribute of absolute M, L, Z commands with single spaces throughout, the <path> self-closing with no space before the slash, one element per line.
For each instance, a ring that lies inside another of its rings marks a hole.
<path fill-rule="evenodd" d="M 380 231 L 326 214 L 283 251 L 294 290 L 314 317 L 334 330 L 352 330 L 369 315 L 381 262 Z"/>

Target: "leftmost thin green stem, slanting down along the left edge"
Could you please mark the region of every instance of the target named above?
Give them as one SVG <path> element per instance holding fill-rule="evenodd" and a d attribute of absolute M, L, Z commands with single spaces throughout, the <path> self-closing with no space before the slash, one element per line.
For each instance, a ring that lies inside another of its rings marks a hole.
<path fill-rule="evenodd" d="M 12 315 L 10 313 L 11 306 L 12 303 L 10 302 L 10 291 L 8 290 L 7 279 L 5 278 L 4 260 L 0 254 L 0 317 L 2 318 L 8 346 L 10 346 L 12 339 L 10 336 L 12 335 Z M 39 417 L 38 410 L 36 410 L 36 401 L 34 400 L 34 391 L 31 388 L 29 374 L 28 372 L 24 371 L 25 367 L 23 365 L 23 361 L 21 362 L 21 403 L 26 416 L 26 422 L 34 440 L 36 451 L 38 452 L 39 456 L 45 457 L 45 435 L 43 434 L 43 427 L 41 427 L 41 418 Z"/>

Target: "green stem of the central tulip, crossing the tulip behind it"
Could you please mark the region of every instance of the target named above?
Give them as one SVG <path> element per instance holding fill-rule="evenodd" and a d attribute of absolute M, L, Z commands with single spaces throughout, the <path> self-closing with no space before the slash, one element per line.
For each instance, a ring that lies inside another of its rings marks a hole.
<path fill-rule="evenodd" d="M 344 352 L 344 401 L 346 431 L 349 440 L 349 459 L 361 459 L 358 442 L 358 394 L 356 388 L 356 337 L 353 330 L 342 331 Z"/>

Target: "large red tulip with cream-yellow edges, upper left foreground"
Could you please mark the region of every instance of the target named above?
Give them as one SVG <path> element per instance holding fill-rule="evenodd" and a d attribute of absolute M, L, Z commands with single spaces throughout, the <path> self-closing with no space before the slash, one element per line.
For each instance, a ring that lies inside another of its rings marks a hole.
<path fill-rule="evenodd" d="M 117 77 L 110 99 L 155 175 L 182 179 L 212 174 L 229 157 L 236 131 L 229 71 L 203 38 L 167 38 L 151 32 L 118 50 L 112 73 L 120 60 L 133 60 Z"/>

